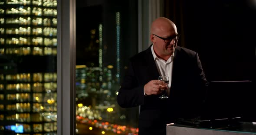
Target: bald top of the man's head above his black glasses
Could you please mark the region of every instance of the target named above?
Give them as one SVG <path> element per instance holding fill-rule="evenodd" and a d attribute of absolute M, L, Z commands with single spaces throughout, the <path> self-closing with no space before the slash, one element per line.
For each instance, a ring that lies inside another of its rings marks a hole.
<path fill-rule="evenodd" d="M 165 17 L 159 17 L 152 22 L 151 34 L 160 35 L 161 33 L 171 32 L 171 35 L 177 33 L 175 24 Z M 168 35 L 162 35 L 168 36 Z"/>

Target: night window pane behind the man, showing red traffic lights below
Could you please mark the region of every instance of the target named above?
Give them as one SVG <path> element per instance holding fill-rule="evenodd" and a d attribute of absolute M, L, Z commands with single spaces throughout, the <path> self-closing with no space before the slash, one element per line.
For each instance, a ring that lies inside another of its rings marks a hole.
<path fill-rule="evenodd" d="M 76 133 L 137 135 L 138 107 L 116 96 L 138 52 L 138 1 L 76 1 Z"/>

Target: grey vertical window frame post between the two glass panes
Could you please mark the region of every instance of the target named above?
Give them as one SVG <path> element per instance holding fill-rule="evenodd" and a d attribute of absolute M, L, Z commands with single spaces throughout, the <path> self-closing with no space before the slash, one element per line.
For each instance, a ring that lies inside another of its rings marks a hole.
<path fill-rule="evenodd" d="M 57 11 L 57 135 L 75 135 L 75 0 Z"/>

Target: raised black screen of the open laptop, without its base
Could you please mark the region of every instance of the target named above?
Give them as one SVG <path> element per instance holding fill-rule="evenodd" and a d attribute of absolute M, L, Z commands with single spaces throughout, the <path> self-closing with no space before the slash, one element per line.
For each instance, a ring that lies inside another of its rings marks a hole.
<path fill-rule="evenodd" d="M 203 117 L 225 119 L 242 117 L 253 120 L 255 89 L 252 81 L 211 81 Z M 255 114 L 256 115 L 256 114 Z"/>

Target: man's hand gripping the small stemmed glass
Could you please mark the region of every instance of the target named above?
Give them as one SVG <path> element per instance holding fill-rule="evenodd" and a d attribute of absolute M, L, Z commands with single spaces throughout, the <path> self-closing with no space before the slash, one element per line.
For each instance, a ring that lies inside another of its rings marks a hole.
<path fill-rule="evenodd" d="M 160 94 L 162 90 L 167 90 L 167 86 L 164 85 L 164 81 L 162 80 L 151 80 L 148 84 L 144 85 L 146 95 L 157 95 Z"/>

